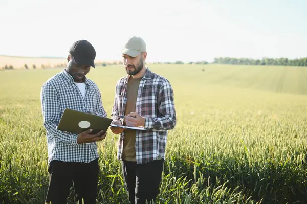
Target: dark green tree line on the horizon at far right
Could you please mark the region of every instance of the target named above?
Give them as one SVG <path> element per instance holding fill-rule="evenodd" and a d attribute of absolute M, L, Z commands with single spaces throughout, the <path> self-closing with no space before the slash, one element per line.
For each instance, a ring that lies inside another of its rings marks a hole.
<path fill-rule="evenodd" d="M 240 64 L 240 65 L 274 65 L 274 66 L 307 66 L 307 57 L 299 59 L 288 58 L 232 58 L 232 57 L 218 57 L 214 58 L 214 64 Z"/>

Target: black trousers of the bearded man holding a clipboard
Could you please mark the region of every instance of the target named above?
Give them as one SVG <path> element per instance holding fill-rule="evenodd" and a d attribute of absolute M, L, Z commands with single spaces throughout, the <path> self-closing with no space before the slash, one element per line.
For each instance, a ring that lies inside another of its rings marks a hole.
<path fill-rule="evenodd" d="M 164 159 L 145 164 L 122 160 L 122 171 L 129 202 L 136 204 L 154 203 L 159 194 Z"/>

